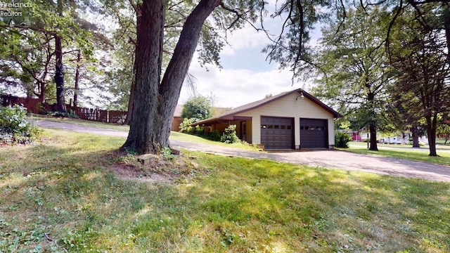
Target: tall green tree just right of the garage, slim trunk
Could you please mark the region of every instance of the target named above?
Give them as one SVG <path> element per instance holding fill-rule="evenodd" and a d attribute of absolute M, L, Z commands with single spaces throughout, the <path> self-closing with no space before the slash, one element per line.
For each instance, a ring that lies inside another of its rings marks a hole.
<path fill-rule="evenodd" d="M 370 150 L 378 150 L 377 129 L 392 79 L 380 29 L 385 18 L 381 8 L 369 11 L 359 6 L 347 11 L 345 22 L 324 29 L 316 65 L 326 74 L 313 89 L 317 96 L 338 101 L 353 128 L 368 128 Z"/>

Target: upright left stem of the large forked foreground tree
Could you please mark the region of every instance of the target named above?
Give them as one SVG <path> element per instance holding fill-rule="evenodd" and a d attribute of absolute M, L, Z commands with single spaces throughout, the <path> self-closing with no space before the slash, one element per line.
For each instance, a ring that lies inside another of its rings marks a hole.
<path fill-rule="evenodd" d="M 158 143 L 160 126 L 155 125 L 155 117 L 158 117 L 156 105 L 162 65 L 165 3 L 165 0 L 143 1 L 141 13 L 138 13 L 134 106 L 128 138 L 122 150 L 136 150 L 139 154 L 159 153 L 161 149 Z"/>

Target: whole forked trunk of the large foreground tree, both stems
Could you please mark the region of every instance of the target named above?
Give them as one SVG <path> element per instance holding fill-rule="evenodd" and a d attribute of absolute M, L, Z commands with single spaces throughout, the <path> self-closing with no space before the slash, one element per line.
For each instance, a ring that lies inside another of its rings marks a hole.
<path fill-rule="evenodd" d="M 202 0 L 188 16 L 172 60 L 160 83 L 165 0 L 145 0 L 137 25 L 136 87 L 130 130 L 122 149 L 159 154 L 169 145 L 170 127 L 181 86 L 206 18 L 220 0 Z"/>

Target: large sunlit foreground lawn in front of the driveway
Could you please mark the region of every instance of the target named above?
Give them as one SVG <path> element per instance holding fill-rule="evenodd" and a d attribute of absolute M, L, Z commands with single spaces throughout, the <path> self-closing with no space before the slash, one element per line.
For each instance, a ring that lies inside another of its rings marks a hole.
<path fill-rule="evenodd" d="M 146 183 L 123 138 L 47 133 L 0 147 L 0 252 L 450 249 L 449 183 L 189 152 L 207 174 Z"/>

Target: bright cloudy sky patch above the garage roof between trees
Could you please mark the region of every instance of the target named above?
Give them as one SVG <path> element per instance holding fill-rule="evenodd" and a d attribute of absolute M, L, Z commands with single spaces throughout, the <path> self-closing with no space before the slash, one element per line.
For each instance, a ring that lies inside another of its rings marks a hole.
<path fill-rule="evenodd" d="M 214 65 L 200 67 L 193 59 L 189 73 L 196 79 L 196 93 L 213 96 L 215 107 L 236 108 L 246 103 L 263 99 L 266 95 L 276 95 L 283 91 L 302 88 L 309 84 L 292 82 L 292 72 L 279 70 L 278 63 L 266 60 L 262 53 L 269 39 L 263 32 L 257 32 L 250 25 L 236 30 L 228 36 L 229 45 L 220 53 L 222 68 Z M 179 104 L 193 96 L 193 91 L 184 86 Z"/>

